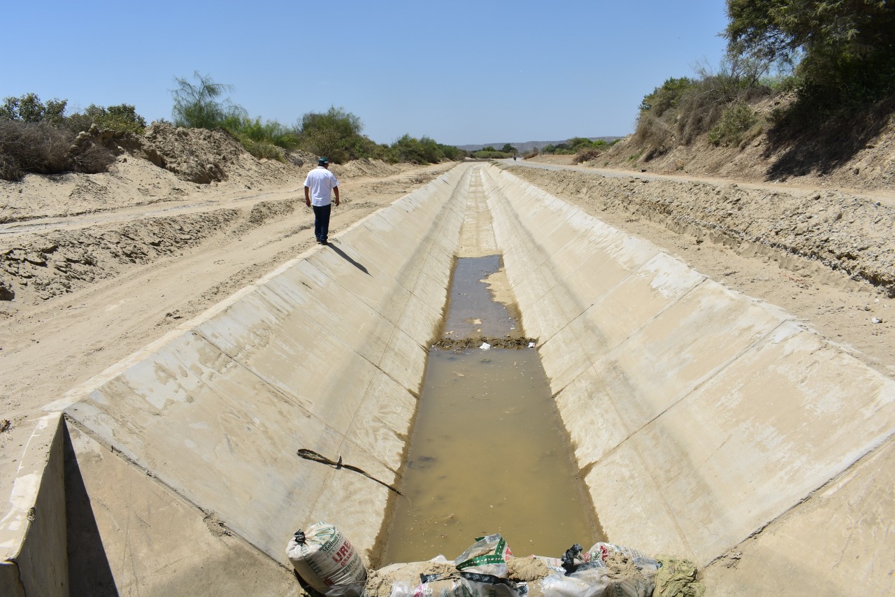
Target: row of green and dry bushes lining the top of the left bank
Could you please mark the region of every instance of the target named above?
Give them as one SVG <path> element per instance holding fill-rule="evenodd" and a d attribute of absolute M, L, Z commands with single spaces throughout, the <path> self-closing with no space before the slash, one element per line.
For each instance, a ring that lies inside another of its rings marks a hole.
<path fill-rule="evenodd" d="M 176 126 L 217 128 L 229 132 L 256 158 L 285 161 L 287 152 L 302 149 L 327 156 L 335 163 L 357 158 L 429 164 L 457 160 L 467 153 L 429 137 L 404 135 L 391 145 L 379 144 L 362 134 L 361 119 L 342 107 L 309 112 L 294 126 L 263 121 L 234 104 L 226 93 L 231 85 L 194 72 L 192 80 L 175 78 L 172 115 Z M 103 107 L 91 104 L 82 112 L 65 114 L 67 100 L 41 101 L 35 93 L 5 98 L 0 105 L 0 178 L 18 180 L 25 173 L 96 173 L 107 170 L 115 154 L 105 133 L 142 134 L 146 120 L 130 104 Z M 81 132 L 89 134 L 81 135 Z M 516 152 L 507 144 L 504 149 Z M 509 153 L 509 156 L 514 155 Z M 502 156 L 503 157 L 503 156 Z"/>

